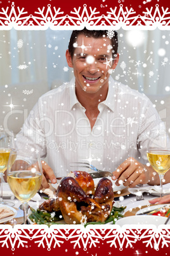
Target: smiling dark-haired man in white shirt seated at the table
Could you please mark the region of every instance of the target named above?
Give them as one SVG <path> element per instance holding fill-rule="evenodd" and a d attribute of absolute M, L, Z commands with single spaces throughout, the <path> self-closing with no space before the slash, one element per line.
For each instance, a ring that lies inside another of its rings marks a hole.
<path fill-rule="evenodd" d="M 30 112 L 16 146 L 48 155 L 44 177 L 56 183 L 67 176 L 71 162 L 90 162 L 112 171 L 116 185 L 159 184 L 147 163 L 147 132 L 160 123 L 147 97 L 115 82 L 117 32 L 73 31 L 66 59 L 74 78 L 42 96 Z M 79 169 L 77 167 L 76 169 Z M 74 169 L 75 170 L 75 169 Z"/>

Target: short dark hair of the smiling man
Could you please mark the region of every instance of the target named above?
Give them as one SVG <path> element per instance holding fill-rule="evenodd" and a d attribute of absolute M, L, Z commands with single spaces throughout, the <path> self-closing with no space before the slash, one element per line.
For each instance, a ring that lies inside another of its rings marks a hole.
<path fill-rule="evenodd" d="M 109 33 L 110 32 L 110 33 Z M 108 30 L 88 30 L 86 27 L 82 30 L 74 30 L 72 31 L 72 34 L 70 36 L 69 41 L 69 53 L 71 57 L 74 55 L 74 43 L 77 39 L 77 36 L 79 34 L 84 34 L 84 36 L 88 36 L 90 38 L 102 38 L 103 36 L 107 36 L 110 38 L 111 45 L 112 45 L 112 56 L 117 54 L 118 49 L 118 36 L 116 31 L 108 31 Z M 111 36 L 108 36 L 108 34 L 111 34 Z"/>

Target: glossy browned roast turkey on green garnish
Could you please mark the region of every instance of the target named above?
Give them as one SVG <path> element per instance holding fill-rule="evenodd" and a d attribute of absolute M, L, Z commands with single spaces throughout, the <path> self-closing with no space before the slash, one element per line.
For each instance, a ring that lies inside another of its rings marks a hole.
<path fill-rule="evenodd" d="M 61 211 L 67 224 L 103 222 L 114 204 L 112 181 L 101 178 L 95 187 L 93 178 L 85 171 L 74 171 L 63 178 L 55 197 L 44 201 L 40 210 Z"/>

